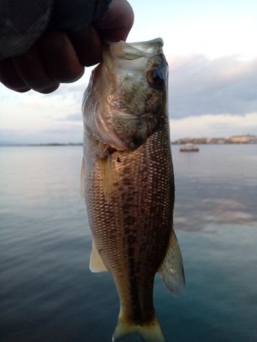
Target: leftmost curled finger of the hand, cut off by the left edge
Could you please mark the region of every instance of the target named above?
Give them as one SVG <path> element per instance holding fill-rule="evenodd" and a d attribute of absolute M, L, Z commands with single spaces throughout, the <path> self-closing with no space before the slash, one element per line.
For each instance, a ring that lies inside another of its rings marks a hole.
<path fill-rule="evenodd" d="M 11 58 L 0 61 L 0 81 L 6 88 L 16 92 L 28 92 L 31 89 L 16 72 Z"/>

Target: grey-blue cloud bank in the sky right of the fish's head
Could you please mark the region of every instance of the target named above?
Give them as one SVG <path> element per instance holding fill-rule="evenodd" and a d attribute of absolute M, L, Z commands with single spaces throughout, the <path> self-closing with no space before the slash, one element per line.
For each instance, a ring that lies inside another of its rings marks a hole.
<path fill-rule="evenodd" d="M 257 111 L 257 57 L 188 55 L 168 62 L 171 118 Z"/>

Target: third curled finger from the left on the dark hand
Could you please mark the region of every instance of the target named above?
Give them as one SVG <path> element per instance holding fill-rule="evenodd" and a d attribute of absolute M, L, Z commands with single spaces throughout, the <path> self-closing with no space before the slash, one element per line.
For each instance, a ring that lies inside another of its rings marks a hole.
<path fill-rule="evenodd" d="M 77 81 L 84 74 L 71 40 L 66 34 L 49 32 L 37 43 L 47 74 L 60 83 Z"/>

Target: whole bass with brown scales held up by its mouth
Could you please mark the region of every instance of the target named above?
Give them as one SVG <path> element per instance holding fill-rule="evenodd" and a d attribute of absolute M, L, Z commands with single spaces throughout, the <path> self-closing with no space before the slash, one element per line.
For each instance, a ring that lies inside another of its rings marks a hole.
<path fill-rule="evenodd" d="M 165 341 L 154 277 L 182 294 L 184 267 L 173 230 L 175 186 L 168 64 L 161 38 L 109 43 L 82 101 L 81 187 L 93 235 L 92 272 L 111 272 L 120 300 L 112 341 L 138 333 Z"/>

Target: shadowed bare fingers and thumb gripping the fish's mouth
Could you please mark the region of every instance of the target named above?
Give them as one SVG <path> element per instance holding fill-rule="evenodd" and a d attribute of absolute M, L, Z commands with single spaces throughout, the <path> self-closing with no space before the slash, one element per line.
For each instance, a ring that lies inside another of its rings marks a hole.
<path fill-rule="evenodd" d="M 90 23 L 74 34 L 45 32 L 23 55 L 0 61 L 0 81 L 16 92 L 31 89 L 42 94 L 55 91 L 60 83 L 77 81 L 84 66 L 101 62 L 102 40 L 125 40 L 134 14 L 126 0 L 113 0 L 106 18 Z"/>

